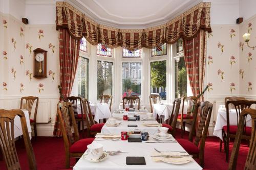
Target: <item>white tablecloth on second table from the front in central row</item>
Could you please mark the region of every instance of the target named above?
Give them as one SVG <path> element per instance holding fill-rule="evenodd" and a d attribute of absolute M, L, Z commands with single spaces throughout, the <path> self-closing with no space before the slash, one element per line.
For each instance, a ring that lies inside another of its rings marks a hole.
<path fill-rule="evenodd" d="M 127 120 L 117 120 L 117 123 L 122 122 L 121 125 L 118 127 L 108 127 L 104 125 L 101 129 L 102 134 L 121 134 L 122 131 L 134 131 L 139 130 L 139 131 L 145 131 L 148 132 L 150 135 L 155 135 L 158 133 L 158 128 L 157 127 L 146 127 L 143 126 L 143 122 L 145 123 L 158 123 L 156 120 L 154 121 L 127 121 Z M 127 125 L 137 125 L 138 127 L 135 128 L 128 128 Z"/>

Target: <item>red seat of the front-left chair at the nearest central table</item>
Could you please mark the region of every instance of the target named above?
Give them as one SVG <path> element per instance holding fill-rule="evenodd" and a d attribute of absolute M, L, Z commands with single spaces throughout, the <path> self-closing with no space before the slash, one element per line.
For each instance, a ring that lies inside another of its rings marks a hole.
<path fill-rule="evenodd" d="M 80 139 L 73 143 L 69 148 L 70 153 L 84 153 L 87 150 L 87 145 L 91 144 L 95 138 Z"/>

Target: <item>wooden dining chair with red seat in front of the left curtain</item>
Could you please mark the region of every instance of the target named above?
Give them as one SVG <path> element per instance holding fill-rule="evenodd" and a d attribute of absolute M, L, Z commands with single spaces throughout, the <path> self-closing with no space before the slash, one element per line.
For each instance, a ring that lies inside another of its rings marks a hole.
<path fill-rule="evenodd" d="M 79 131 L 81 129 L 81 123 L 82 123 L 82 137 L 84 137 L 84 120 L 86 119 L 86 116 L 83 113 L 82 98 L 80 98 L 78 96 L 70 96 L 67 99 L 72 104 L 73 112 L 74 112 L 75 119 L 76 119 L 76 122 L 77 122 L 78 127 L 79 127 L 78 128 Z M 78 103 L 80 103 L 81 114 L 78 114 L 78 111 L 77 111 L 77 104 Z"/>

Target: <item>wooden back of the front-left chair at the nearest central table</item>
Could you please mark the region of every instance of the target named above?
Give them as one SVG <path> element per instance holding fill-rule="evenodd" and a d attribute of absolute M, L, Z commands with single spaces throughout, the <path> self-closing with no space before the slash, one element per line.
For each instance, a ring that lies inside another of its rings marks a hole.
<path fill-rule="evenodd" d="M 59 117 L 62 136 L 64 139 L 65 150 L 68 150 L 69 152 L 70 144 L 73 144 L 74 142 L 79 140 L 79 133 L 76 125 L 72 104 L 70 102 L 58 103 L 57 113 Z M 74 135 L 72 132 L 72 125 L 74 129 Z"/>

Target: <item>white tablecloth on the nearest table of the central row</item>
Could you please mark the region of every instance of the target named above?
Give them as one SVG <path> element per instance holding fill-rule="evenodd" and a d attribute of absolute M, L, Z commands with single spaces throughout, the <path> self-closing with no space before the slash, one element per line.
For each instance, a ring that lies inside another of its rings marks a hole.
<path fill-rule="evenodd" d="M 109 156 L 106 160 L 102 162 L 92 163 L 87 160 L 82 159 L 73 167 L 73 170 L 112 170 L 112 169 L 126 169 L 126 170 L 137 170 L 137 169 L 147 169 L 147 170 L 158 170 L 158 169 L 191 169 L 200 170 L 202 167 L 195 161 L 188 162 L 186 164 L 168 164 L 164 162 L 154 162 L 151 158 L 154 148 L 160 151 L 173 150 L 173 151 L 185 151 L 178 142 L 173 143 L 141 143 L 138 142 L 128 142 L 127 140 L 95 140 L 93 143 L 103 144 L 103 151 L 126 151 L 126 154 L 117 154 L 114 156 Z M 126 165 L 127 156 L 143 156 L 145 157 L 146 165 Z"/>

